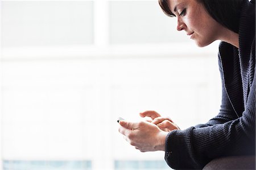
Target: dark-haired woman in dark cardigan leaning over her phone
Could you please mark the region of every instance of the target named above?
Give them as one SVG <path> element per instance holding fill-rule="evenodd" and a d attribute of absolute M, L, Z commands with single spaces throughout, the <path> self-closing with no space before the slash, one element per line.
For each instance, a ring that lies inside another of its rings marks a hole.
<path fill-rule="evenodd" d="M 199 47 L 221 40 L 220 113 L 209 122 L 180 130 L 155 111 L 152 122 L 120 121 L 119 132 L 142 152 L 165 151 L 175 169 L 201 169 L 223 156 L 255 155 L 255 0 L 159 0 Z"/>

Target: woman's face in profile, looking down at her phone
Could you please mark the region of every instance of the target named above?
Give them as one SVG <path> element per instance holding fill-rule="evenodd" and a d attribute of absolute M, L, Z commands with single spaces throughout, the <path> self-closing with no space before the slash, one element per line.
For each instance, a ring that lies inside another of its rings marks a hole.
<path fill-rule="evenodd" d="M 221 24 L 216 22 L 197 0 L 168 0 L 172 13 L 177 18 L 177 30 L 184 30 L 199 47 L 218 39 Z"/>

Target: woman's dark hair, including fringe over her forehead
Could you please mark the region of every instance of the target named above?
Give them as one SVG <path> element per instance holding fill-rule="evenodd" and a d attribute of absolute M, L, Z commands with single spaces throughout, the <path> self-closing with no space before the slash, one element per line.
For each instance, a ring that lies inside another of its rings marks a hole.
<path fill-rule="evenodd" d="M 168 0 L 159 0 L 159 5 L 167 16 L 175 16 L 168 7 Z M 247 0 L 197 0 L 202 3 L 213 19 L 222 26 L 238 33 L 240 9 Z"/>

